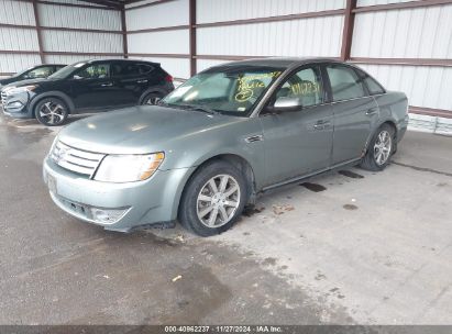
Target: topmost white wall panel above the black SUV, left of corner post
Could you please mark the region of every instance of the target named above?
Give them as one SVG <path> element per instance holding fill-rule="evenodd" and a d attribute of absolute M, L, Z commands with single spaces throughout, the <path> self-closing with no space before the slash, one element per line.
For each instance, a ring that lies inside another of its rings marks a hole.
<path fill-rule="evenodd" d="M 43 26 L 121 31 L 121 13 L 119 11 L 43 3 L 38 3 L 37 9 L 40 23 Z"/>

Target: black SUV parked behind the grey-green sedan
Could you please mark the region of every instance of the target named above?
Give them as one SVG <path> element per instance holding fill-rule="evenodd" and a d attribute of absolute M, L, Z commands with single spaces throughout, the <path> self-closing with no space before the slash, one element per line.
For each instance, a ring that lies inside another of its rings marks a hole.
<path fill-rule="evenodd" d="M 36 118 L 54 126 L 70 113 L 155 104 L 174 90 L 173 77 L 159 64 L 109 59 L 66 66 L 47 79 L 25 80 L 1 90 L 3 112 L 13 118 Z"/>

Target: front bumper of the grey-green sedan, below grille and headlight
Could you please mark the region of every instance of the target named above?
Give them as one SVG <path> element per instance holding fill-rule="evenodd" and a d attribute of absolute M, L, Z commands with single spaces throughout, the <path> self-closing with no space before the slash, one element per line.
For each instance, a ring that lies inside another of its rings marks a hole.
<path fill-rule="evenodd" d="M 106 230 L 128 232 L 140 225 L 176 220 L 184 185 L 194 169 L 157 170 L 146 181 L 111 183 L 76 175 L 46 157 L 43 177 L 53 201 L 62 210 Z M 119 213 L 117 220 L 101 222 L 92 210 Z"/>

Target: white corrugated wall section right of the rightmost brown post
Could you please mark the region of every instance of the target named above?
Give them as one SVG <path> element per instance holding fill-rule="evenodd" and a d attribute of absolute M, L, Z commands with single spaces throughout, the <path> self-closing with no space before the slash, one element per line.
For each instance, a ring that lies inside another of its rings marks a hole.
<path fill-rule="evenodd" d="M 361 0 L 359 5 L 392 2 L 405 1 Z M 452 3 L 356 13 L 351 57 L 451 59 Z M 450 98 L 452 67 L 412 65 L 362 65 L 362 67 L 386 88 L 406 92 L 410 105 L 452 111 Z M 445 126 L 442 124 L 444 122 L 432 116 L 411 115 L 414 127 L 441 129 Z"/>

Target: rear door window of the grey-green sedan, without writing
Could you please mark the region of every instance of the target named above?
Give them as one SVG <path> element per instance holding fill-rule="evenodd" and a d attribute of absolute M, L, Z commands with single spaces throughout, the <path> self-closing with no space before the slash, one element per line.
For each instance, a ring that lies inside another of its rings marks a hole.
<path fill-rule="evenodd" d="M 356 99 L 366 94 L 362 78 L 352 68 L 329 65 L 327 66 L 327 73 L 331 82 L 333 101 Z"/>

